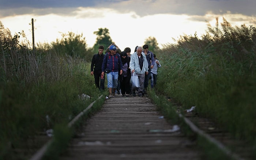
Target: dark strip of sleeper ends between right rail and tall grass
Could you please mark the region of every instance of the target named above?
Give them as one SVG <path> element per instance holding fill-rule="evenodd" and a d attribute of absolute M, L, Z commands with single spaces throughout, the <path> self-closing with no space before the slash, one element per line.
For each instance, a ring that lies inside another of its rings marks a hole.
<path fill-rule="evenodd" d="M 208 141 L 214 143 L 227 156 L 234 160 L 255 160 L 255 153 L 248 142 L 234 139 L 227 130 L 223 130 L 214 122 L 207 118 L 199 117 L 194 113 L 185 114 L 185 121 L 194 132 L 206 137 Z M 196 129 L 193 129 L 196 126 Z"/>

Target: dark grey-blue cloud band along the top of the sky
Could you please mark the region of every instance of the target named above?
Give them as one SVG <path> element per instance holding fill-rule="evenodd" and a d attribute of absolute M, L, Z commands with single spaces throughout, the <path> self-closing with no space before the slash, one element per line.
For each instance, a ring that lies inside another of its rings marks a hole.
<path fill-rule="evenodd" d="M 115 9 L 121 13 L 135 12 L 139 16 L 154 14 L 243 14 L 256 16 L 255 0 L 1 0 L 0 17 L 12 15 L 47 15 L 49 13 L 74 16 L 79 8 Z"/>

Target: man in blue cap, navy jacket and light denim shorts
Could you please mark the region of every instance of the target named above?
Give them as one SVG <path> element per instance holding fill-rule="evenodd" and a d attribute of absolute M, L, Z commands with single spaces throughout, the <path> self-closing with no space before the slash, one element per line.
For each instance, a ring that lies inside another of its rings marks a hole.
<path fill-rule="evenodd" d="M 116 46 L 111 45 L 109 47 L 109 53 L 106 53 L 104 56 L 101 67 L 101 75 L 103 76 L 105 73 L 107 75 L 109 98 L 115 96 L 119 70 L 121 75 L 123 73 L 123 64 L 121 61 L 121 57 L 120 54 L 116 53 Z"/>

